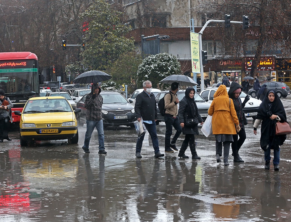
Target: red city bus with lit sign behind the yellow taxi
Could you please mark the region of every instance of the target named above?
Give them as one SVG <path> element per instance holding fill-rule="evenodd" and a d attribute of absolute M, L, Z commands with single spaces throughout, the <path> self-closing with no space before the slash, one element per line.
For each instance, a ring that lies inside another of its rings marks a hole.
<path fill-rule="evenodd" d="M 38 74 L 38 58 L 31 52 L 0 53 L 0 89 L 3 89 L 13 103 L 13 123 L 19 124 L 20 116 L 14 115 L 15 110 L 22 112 L 30 97 L 37 97 L 43 75 Z"/>

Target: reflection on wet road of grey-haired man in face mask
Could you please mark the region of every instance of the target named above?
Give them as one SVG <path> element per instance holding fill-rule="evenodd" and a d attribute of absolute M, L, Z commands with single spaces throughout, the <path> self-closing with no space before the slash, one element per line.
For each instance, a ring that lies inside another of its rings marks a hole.
<path fill-rule="evenodd" d="M 138 203 L 137 203 L 137 212 L 139 214 L 139 218 L 142 219 L 142 221 L 152 221 L 153 219 L 156 219 L 158 214 L 158 203 L 159 199 L 157 197 L 157 192 L 160 191 L 160 187 L 157 184 L 160 184 L 159 179 L 161 178 L 161 174 L 159 172 L 160 170 L 160 162 L 161 159 L 155 159 L 155 165 L 152 171 L 152 177 L 150 178 L 150 181 L 147 182 L 144 175 L 146 175 L 147 172 L 144 172 L 142 169 L 141 161 L 136 161 L 137 166 L 137 173 L 140 178 L 142 186 L 140 187 L 139 197 L 138 197 Z M 147 167 L 149 168 L 149 166 Z"/>

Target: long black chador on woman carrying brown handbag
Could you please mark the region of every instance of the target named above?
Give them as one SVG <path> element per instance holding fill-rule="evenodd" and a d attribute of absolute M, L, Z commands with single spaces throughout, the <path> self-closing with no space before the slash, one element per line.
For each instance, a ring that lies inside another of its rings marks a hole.
<path fill-rule="evenodd" d="M 275 95 L 273 102 L 269 100 L 268 96 L 270 93 L 274 93 Z M 281 119 L 280 122 L 287 121 L 286 112 L 280 98 L 274 90 L 270 89 L 267 91 L 265 99 L 260 104 L 256 117 L 256 119 L 262 119 L 260 145 L 263 150 L 268 144 L 272 146 L 272 149 L 278 149 L 278 145 L 282 145 L 286 139 L 286 135 L 275 135 L 277 120 L 270 119 L 272 114 L 279 116 Z"/>

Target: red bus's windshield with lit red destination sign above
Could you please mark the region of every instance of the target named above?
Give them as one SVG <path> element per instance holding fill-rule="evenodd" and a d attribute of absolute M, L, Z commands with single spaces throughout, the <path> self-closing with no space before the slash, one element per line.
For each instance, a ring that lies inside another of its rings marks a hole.
<path fill-rule="evenodd" d="M 6 95 L 38 94 L 37 60 L 0 61 L 0 89 Z"/>

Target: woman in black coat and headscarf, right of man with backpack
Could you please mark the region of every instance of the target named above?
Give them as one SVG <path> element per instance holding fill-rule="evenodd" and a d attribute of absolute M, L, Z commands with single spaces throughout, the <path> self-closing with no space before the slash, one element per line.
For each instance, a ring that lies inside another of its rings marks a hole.
<path fill-rule="evenodd" d="M 185 96 L 179 102 L 179 111 L 178 117 L 180 120 L 180 125 L 182 127 L 182 133 L 185 135 L 185 139 L 180 148 L 178 157 L 189 158 L 185 155 L 185 151 L 190 146 L 192 159 L 201 159 L 198 157 L 196 148 L 195 148 L 195 135 L 199 135 L 198 132 L 198 123 L 200 122 L 203 125 L 203 119 L 198 113 L 198 108 L 194 99 L 195 89 L 187 88 L 185 91 Z M 188 121 L 187 121 L 188 119 Z M 187 122 L 193 120 L 191 125 Z"/>

